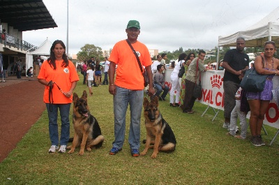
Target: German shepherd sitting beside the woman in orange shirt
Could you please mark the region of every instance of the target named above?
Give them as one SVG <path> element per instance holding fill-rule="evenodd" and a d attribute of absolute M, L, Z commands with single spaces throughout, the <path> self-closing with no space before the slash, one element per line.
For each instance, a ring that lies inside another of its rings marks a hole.
<path fill-rule="evenodd" d="M 72 145 L 67 147 L 70 149 L 68 154 L 72 154 L 75 147 L 80 146 L 79 154 L 83 155 L 85 147 L 86 150 L 91 151 L 93 147 L 98 148 L 103 145 L 104 136 L 98 121 L 89 112 L 86 90 L 83 91 L 81 98 L 76 93 L 73 94 L 73 124 L 75 135 Z"/>

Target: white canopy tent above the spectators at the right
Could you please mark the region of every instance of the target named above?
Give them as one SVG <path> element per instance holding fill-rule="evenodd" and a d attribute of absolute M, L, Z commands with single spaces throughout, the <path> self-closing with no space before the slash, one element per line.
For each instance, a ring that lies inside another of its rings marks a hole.
<path fill-rule="evenodd" d="M 262 20 L 248 27 L 244 31 L 236 32 L 232 35 L 219 36 L 218 55 L 219 61 L 220 47 L 235 47 L 236 38 L 242 37 L 246 40 L 246 47 L 263 47 L 264 42 L 273 40 L 279 41 L 279 7 L 266 15 Z"/>

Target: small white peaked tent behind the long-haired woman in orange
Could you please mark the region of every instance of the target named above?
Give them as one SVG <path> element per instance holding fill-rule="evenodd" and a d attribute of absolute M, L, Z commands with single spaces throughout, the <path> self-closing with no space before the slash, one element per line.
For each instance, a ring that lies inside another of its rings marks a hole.
<path fill-rule="evenodd" d="M 26 69 L 28 70 L 30 67 L 33 67 L 33 55 L 38 56 L 50 56 L 50 48 L 52 47 L 52 42 L 50 40 L 45 40 L 40 47 L 36 50 L 27 52 L 26 54 Z"/>

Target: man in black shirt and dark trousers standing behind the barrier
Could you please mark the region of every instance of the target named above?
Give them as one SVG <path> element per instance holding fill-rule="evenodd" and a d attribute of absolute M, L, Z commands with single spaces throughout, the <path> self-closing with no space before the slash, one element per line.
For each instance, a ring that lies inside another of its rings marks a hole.
<path fill-rule="evenodd" d="M 245 40 L 244 38 L 236 39 L 236 49 L 229 49 L 224 56 L 223 67 L 224 74 L 224 128 L 229 127 L 232 109 L 235 106 L 234 95 L 239 89 L 241 83 L 241 72 L 249 69 L 249 56 L 244 54 Z"/>

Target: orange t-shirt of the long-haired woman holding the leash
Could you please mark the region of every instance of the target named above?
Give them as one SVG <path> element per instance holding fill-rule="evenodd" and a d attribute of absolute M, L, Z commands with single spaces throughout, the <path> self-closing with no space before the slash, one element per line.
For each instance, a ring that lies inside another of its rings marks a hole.
<path fill-rule="evenodd" d="M 40 67 L 40 73 L 38 79 L 45 79 L 46 81 L 54 81 L 63 92 L 68 92 L 72 86 L 73 81 L 79 81 L 77 71 L 75 70 L 75 65 L 69 61 L 67 67 L 61 67 L 63 61 L 55 61 L 56 70 L 50 67 L 50 64 L 45 61 Z M 54 104 L 68 104 L 72 100 L 61 93 L 59 88 L 54 84 L 52 88 L 52 98 Z M 43 95 L 43 101 L 45 103 L 50 103 L 49 101 L 49 86 L 45 86 L 45 92 Z M 71 96 L 73 99 L 73 95 Z"/>

